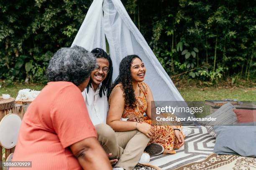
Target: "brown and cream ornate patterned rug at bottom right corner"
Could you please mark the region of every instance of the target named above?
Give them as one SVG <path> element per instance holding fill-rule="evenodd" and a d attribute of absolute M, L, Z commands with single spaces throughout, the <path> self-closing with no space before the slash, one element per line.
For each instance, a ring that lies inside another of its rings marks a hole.
<path fill-rule="evenodd" d="M 256 170 L 256 158 L 213 153 L 203 161 L 189 163 L 175 170 Z"/>

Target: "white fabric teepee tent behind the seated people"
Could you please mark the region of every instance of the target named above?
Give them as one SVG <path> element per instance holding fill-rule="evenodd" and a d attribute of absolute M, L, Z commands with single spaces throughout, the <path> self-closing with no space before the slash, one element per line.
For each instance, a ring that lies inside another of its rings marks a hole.
<path fill-rule="evenodd" d="M 94 0 L 72 46 L 106 50 L 105 37 L 113 60 L 113 80 L 118 76 L 120 61 L 136 54 L 146 66 L 145 82 L 155 101 L 184 101 L 120 0 Z"/>

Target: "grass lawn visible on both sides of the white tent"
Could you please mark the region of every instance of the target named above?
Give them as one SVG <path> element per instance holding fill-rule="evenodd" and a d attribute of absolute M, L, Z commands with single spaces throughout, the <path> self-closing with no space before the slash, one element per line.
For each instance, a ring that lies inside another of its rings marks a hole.
<path fill-rule="evenodd" d="M 2 84 L 0 82 L 0 84 Z M 21 89 L 29 88 L 33 90 L 41 90 L 44 87 L 43 84 L 25 84 L 14 83 L 11 86 L 3 86 L 0 88 L 0 95 L 10 94 L 11 97 L 16 97 L 18 91 Z M 178 88 L 184 100 L 222 100 L 238 99 L 240 101 L 256 101 L 256 88 L 253 87 L 182 87 Z"/>

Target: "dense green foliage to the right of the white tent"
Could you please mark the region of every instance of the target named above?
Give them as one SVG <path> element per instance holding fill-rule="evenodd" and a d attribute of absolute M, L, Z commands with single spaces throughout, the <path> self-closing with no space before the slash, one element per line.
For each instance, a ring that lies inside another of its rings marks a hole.
<path fill-rule="evenodd" d="M 141 4 L 141 13 L 142 6 L 150 10 L 141 20 L 151 18 L 153 23 L 153 34 L 148 40 L 169 75 L 174 75 L 175 70 L 176 75 L 184 72 L 191 78 L 215 83 L 236 75 L 256 80 L 254 1 L 179 0 Z M 145 28 L 151 23 L 146 23 Z M 169 58 L 166 51 L 172 53 Z M 172 62 L 170 66 L 166 65 L 168 61 Z M 180 65 L 186 65 L 185 70 Z"/>

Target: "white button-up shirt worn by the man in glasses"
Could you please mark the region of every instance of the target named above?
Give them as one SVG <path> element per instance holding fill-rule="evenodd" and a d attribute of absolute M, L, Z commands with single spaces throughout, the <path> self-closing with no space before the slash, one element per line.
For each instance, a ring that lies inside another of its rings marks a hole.
<path fill-rule="evenodd" d="M 84 89 L 82 95 L 88 110 L 90 119 L 92 120 L 93 125 L 100 123 L 106 124 L 107 114 L 108 114 L 108 98 L 105 92 L 102 92 L 102 97 L 100 97 L 100 86 L 94 91 L 92 87 L 89 87 L 87 93 L 87 88 Z"/>

